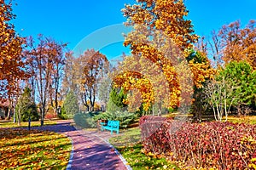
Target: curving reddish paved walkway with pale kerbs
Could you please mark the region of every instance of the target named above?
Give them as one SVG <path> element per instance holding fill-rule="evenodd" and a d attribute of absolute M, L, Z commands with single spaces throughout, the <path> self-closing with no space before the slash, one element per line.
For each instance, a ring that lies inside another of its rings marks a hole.
<path fill-rule="evenodd" d="M 38 127 L 40 129 L 66 134 L 73 140 L 72 159 L 67 169 L 85 170 L 125 170 L 120 156 L 108 144 L 110 132 L 83 131 L 70 125 L 71 122 L 58 122 L 57 125 Z"/>

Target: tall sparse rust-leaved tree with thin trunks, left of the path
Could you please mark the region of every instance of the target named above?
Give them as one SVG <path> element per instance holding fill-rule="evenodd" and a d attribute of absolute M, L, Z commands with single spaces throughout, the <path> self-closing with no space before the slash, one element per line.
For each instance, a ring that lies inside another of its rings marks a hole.
<path fill-rule="evenodd" d="M 58 107 L 59 82 L 61 81 L 61 69 L 65 62 L 64 48 L 66 43 L 55 42 L 55 40 L 38 35 L 38 41 L 32 37 L 27 38 L 28 50 L 25 52 L 28 59 L 32 78 L 31 86 L 34 86 L 38 95 L 38 103 L 41 115 L 41 126 L 44 125 L 44 116 L 48 110 L 47 106 L 55 97 L 55 111 Z"/>

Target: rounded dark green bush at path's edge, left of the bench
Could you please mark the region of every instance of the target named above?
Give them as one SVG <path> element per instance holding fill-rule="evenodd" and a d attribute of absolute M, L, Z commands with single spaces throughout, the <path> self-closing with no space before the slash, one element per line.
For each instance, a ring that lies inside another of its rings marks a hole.
<path fill-rule="evenodd" d="M 77 113 L 73 116 L 73 120 L 79 127 L 95 128 L 96 121 L 90 116 L 90 113 Z"/>

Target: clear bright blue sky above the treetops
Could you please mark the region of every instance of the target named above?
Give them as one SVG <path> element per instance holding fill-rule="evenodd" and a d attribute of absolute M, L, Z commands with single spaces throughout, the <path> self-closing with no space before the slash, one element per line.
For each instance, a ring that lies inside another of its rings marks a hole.
<path fill-rule="evenodd" d="M 68 42 L 71 50 L 78 47 L 101 49 L 108 59 L 129 53 L 122 47 L 121 24 L 125 18 L 121 8 L 135 0 L 15 0 L 17 15 L 13 21 L 21 36 L 36 37 L 42 33 L 57 41 Z M 244 26 L 256 20 L 255 0 L 184 0 L 189 9 L 188 19 L 195 26 L 195 33 L 208 36 L 224 24 L 241 20 Z"/>

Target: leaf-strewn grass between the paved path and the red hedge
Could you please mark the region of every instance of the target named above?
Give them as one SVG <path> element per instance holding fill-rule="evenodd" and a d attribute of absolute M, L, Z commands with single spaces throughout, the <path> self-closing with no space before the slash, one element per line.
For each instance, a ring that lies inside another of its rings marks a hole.
<path fill-rule="evenodd" d="M 134 170 L 141 169 L 179 169 L 165 158 L 157 158 L 155 156 L 145 156 L 140 143 L 140 130 L 133 127 L 128 130 L 121 131 L 121 135 L 109 139 L 109 142 L 119 150 L 119 153 L 125 157 L 129 165 Z"/>

